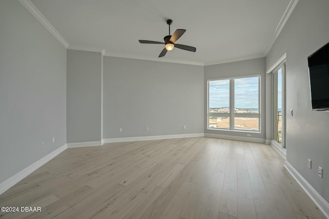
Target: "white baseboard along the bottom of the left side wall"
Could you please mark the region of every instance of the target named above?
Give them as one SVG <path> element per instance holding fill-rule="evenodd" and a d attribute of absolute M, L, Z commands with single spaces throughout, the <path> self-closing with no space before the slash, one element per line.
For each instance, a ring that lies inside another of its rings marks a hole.
<path fill-rule="evenodd" d="M 63 152 L 66 148 L 67 148 L 66 144 L 60 148 L 57 148 L 56 150 L 42 157 L 39 161 L 34 162 L 30 166 L 26 167 L 25 169 L 21 170 L 20 172 L 8 178 L 6 181 L 2 182 L 0 184 L 0 194 L 4 193 L 8 189 L 10 189 L 13 185 L 23 180 L 23 178 L 25 178 L 27 175 L 29 175 L 34 170 L 38 169 L 39 167 L 50 161 L 52 158 L 56 157 L 58 154 Z"/>

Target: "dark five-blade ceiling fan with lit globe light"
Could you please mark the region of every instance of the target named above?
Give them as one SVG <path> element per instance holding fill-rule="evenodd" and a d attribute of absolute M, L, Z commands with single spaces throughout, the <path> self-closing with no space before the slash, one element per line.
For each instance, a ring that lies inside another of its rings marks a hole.
<path fill-rule="evenodd" d="M 192 47 L 192 46 L 186 46 L 186 45 L 181 45 L 181 44 L 175 44 L 175 42 L 177 41 L 177 39 L 179 39 L 181 37 L 181 35 L 183 35 L 185 33 L 186 30 L 184 29 L 177 29 L 173 35 L 170 35 L 170 25 L 173 23 L 173 21 L 171 19 L 167 20 L 167 24 L 169 25 L 169 35 L 165 36 L 165 38 L 163 38 L 165 40 L 165 43 L 162 42 L 157 42 L 157 41 L 143 41 L 143 40 L 139 40 L 139 43 L 141 44 L 165 44 L 165 48 L 161 51 L 161 53 L 159 54 L 159 57 L 165 56 L 167 51 L 171 51 L 174 49 L 174 47 L 178 48 L 178 49 L 183 49 L 183 50 L 187 50 L 187 51 L 191 51 L 191 52 L 195 52 L 196 48 Z"/>

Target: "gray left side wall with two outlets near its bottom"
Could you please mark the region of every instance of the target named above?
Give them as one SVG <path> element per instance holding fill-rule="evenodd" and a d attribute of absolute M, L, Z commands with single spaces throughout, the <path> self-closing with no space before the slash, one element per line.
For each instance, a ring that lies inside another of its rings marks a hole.
<path fill-rule="evenodd" d="M 19 1 L 2 0 L 0 183 L 65 143 L 66 49 Z"/>

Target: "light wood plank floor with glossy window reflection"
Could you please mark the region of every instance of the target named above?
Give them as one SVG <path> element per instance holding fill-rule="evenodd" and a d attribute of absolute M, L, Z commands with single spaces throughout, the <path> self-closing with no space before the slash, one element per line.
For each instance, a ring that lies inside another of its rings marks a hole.
<path fill-rule="evenodd" d="M 0 218 L 325 218 L 270 146 L 209 137 L 70 148 L 0 195 Z"/>

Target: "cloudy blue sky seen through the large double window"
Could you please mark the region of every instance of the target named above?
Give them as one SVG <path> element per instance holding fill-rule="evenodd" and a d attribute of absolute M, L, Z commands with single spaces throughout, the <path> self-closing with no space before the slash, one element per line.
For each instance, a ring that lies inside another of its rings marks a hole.
<path fill-rule="evenodd" d="M 234 79 L 235 108 L 258 108 L 259 77 Z M 229 107 L 229 79 L 209 82 L 209 108 Z"/>

